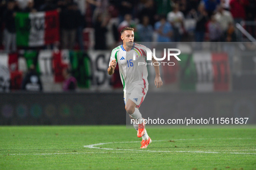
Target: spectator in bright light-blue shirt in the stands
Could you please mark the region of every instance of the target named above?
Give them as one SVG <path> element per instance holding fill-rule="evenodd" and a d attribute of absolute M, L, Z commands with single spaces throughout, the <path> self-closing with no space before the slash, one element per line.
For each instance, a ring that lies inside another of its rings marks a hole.
<path fill-rule="evenodd" d="M 166 21 L 165 16 L 161 16 L 159 22 L 155 24 L 155 30 L 158 34 L 158 42 L 171 42 L 172 41 L 172 25 Z"/>

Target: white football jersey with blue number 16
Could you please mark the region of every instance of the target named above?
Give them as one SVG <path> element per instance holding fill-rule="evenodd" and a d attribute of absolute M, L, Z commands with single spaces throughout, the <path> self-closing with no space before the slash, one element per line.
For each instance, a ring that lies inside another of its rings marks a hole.
<path fill-rule="evenodd" d="M 123 48 L 123 45 L 114 48 L 111 52 L 110 62 L 117 60 L 125 93 L 131 93 L 136 85 L 143 85 L 148 90 L 145 49 L 145 46 L 133 43 L 132 49 L 128 52 Z M 136 60 L 133 60 L 133 53 L 135 53 Z"/>

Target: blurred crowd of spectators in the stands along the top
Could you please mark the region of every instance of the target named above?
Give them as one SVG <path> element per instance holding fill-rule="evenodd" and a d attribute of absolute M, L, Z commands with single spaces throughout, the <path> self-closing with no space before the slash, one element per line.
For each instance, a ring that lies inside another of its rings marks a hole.
<path fill-rule="evenodd" d="M 135 28 L 137 42 L 241 41 L 235 24 L 256 19 L 256 0 L 0 0 L 1 47 L 17 49 L 17 12 L 54 9 L 60 16 L 57 46 L 80 50 L 85 28 L 93 28 L 94 49 L 105 50 L 120 44 L 126 26 Z M 253 37 L 255 29 L 255 23 L 246 26 Z"/>

